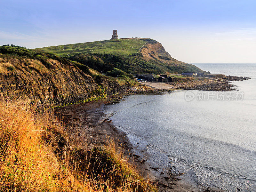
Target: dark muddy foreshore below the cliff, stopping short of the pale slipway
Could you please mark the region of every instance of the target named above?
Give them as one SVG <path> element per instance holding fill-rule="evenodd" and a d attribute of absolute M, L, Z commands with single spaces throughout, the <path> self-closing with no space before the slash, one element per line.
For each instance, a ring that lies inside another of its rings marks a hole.
<path fill-rule="evenodd" d="M 136 89 L 131 89 L 131 92 L 134 92 L 134 90 L 140 90 L 138 93 L 145 92 L 146 90 L 147 93 L 156 93 L 156 89 L 150 87 L 148 88 L 146 86 L 138 86 Z M 160 92 L 160 90 L 158 91 Z M 160 176 L 152 175 L 152 170 L 156 172 L 157 170 L 156 168 L 151 167 L 145 161 L 144 158 L 147 156 L 147 153 L 143 152 L 142 156 L 136 155 L 137 149 L 127 139 L 126 132 L 116 128 L 112 122 L 109 121 L 108 116 L 104 114 L 104 106 L 106 104 L 119 102 L 122 100 L 123 96 L 134 94 L 131 92 L 127 91 L 125 94 L 108 96 L 104 100 L 90 101 L 63 108 L 57 108 L 55 109 L 55 112 L 61 115 L 63 122 L 66 125 L 72 127 L 72 129 L 69 130 L 70 134 L 74 132 L 79 134 L 81 138 L 87 140 L 87 146 L 92 146 L 95 144 L 104 145 L 108 138 L 115 139 L 118 145 L 122 145 L 125 154 L 129 156 L 131 162 L 136 164 L 140 174 L 156 183 L 160 192 L 220 192 L 221 190 L 212 188 L 199 190 L 195 184 L 185 179 L 186 174 L 183 173 L 179 175 L 172 175 L 170 172 L 168 175 L 163 173 L 156 174 Z"/>

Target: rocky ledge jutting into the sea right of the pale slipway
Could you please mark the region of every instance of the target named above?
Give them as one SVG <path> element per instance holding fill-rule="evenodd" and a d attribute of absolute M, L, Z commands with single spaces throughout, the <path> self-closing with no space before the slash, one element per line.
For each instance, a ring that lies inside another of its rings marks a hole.
<path fill-rule="evenodd" d="M 187 82 L 175 82 L 168 83 L 177 89 L 183 90 L 199 90 L 199 91 L 234 91 L 236 90 L 235 85 L 231 84 L 231 81 L 243 81 L 250 79 L 249 77 L 241 76 L 226 76 L 226 78 L 218 77 L 202 77 L 196 78 L 192 81 Z"/>

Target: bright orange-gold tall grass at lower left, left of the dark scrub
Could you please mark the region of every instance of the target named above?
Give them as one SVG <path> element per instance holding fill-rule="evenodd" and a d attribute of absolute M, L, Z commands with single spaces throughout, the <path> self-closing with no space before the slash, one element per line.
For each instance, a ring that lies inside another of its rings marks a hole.
<path fill-rule="evenodd" d="M 57 158 L 40 139 L 51 126 L 49 114 L 37 115 L 36 108 L 29 108 L 25 100 L 1 100 L 1 191 L 57 189 Z"/>

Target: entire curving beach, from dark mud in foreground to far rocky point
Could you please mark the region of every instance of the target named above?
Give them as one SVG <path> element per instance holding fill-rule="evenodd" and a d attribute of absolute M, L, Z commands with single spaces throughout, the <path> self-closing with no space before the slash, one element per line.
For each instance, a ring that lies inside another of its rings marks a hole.
<path fill-rule="evenodd" d="M 131 162 L 136 164 L 140 174 L 144 178 L 153 181 L 160 192 L 221 192 L 223 190 L 212 186 L 205 187 L 204 185 L 200 185 L 200 188 L 198 188 L 198 185 L 191 181 L 186 172 L 184 172 L 184 174 L 183 172 L 176 171 L 175 166 L 177 165 L 171 165 L 169 170 L 165 169 L 165 171 L 161 171 L 162 169 L 159 169 L 161 165 L 157 165 L 157 163 L 152 164 L 152 162 L 150 162 L 149 159 L 153 158 L 153 156 L 150 155 L 147 150 L 142 150 L 137 145 L 134 145 L 134 141 L 131 141 L 129 135 L 127 135 L 129 132 L 122 130 L 120 127 L 116 127 L 111 121 L 112 114 L 105 114 L 104 108 L 111 104 L 122 103 L 124 102 L 123 97 L 126 98 L 133 94 L 145 95 L 149 98 L 155 95 L 157 98 L 164 92 L 168 93 L 174 90 L 180 90 L 181 88 L 184 90 L 205 90 L 205 87 L 208 87 L 207 90 L 209 91 L 230 91 L 230 89 L 234 90 L 234 86 L 230 84 L 231 79 L 232 81 L 239 81 L 246 78 L 234 76 L 228 77 L 227 79 L 197 78 L 195 81 L 176 84 L 146 82 L 143 85 L 132 87 L 123 94 L 111 95 L 103 100 L 58 108 L 57 112 L 61 114 L 66 124 L 73 127 L 71 134 L 73 134 L 72 132 L 76 132 L 76 134 L 79 132 L 78 134 L 80 134 L 83 139 L 87 139 L 87 150 L 90 150 L 90 146 L 95 144 L 104 146 L 109 138 L 114 138 L 116 143 L 122 146 L 126 156 L 129 156 Z M 121 126 L 126 125 L 123 124 Z M 142 143 L 142 145 L 144 144 Z M 155 155 L 155 158 L 158 158 L 158 156 Z"/>

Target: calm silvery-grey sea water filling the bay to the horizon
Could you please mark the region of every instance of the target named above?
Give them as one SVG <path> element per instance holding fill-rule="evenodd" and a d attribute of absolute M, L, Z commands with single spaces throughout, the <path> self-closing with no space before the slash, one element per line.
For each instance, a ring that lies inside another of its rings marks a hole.
<path fill-rule="evenodd" d="M 110 119 L 127 132 L 137 153 L 146 152 L 147 163 L 159 172 L 171 168 L 186 173 L 198 188 L 256 191 L 256 64 L 195 65 L 211 73 L 251 77 L 233 82 L 244 92 L 243 100 L 188 102 L 186 91 L 131 95 L 105 106 L 105 113 L 113 115 Z"/>

